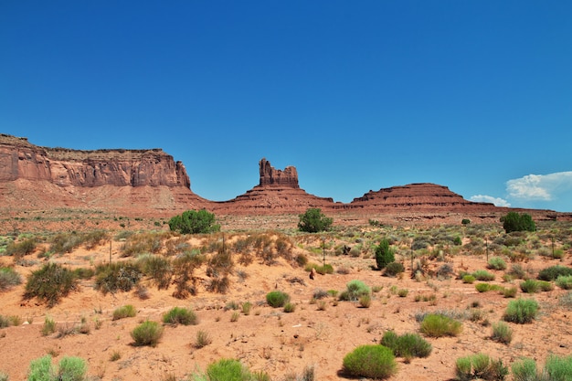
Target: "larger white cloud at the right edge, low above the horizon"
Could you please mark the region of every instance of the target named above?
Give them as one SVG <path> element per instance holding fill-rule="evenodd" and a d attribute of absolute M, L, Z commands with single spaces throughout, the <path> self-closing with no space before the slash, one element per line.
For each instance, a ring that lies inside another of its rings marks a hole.
<path fill-rule="evenodd" d="M 524 200 L 552 201 L 572 190 L 572 171 L 548 175 L 525 175 L 506 182 L 510 197 Z"/>

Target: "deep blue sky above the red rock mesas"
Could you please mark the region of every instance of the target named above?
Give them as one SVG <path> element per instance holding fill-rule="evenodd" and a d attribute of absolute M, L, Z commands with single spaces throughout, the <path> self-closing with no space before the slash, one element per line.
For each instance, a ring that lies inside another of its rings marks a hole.
<path fill-rule="evenodd" d="M 4 1 L 0 132 L 163 148 L 228 200 L 435 183 L 572 211 L 572 2 Z"/>

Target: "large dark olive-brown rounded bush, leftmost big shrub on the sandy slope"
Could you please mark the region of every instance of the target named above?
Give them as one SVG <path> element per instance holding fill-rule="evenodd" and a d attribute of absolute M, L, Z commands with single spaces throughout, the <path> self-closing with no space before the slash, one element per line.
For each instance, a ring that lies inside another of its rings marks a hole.
<path fill-rule="evenodd" d="M 78 288 L 78 280 L 73 271 L 57 263 L 47 263 L 41 269 L 32 271 L 26 281 L 25 299 L 37 298 L 53 307 Z"/>

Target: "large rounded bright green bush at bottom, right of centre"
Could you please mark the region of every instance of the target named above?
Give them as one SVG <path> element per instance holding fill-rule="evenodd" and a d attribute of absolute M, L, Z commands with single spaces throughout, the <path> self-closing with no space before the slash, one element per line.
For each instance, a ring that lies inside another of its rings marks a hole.
<path fill-rule="evenodd" d="M 344 356 L 344 372 L 351 376 L 384 379 L 397 373 L 393 351 L 379 344 L 360 345 Z"/>

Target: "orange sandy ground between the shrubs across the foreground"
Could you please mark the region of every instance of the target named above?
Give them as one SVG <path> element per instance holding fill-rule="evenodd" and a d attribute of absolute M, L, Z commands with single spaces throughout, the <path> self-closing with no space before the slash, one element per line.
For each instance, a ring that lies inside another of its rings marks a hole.
<path fill-rule="evenodd" d="M 85 266 L 109 259 L 109 247 L 103 246 L 86 251 L 79 249 L 72 254 L 53 260 L 69 266 Z M 118 254 L 113 254 L 113 260 Z M 311 257 L 320 263 L 320 256 Z M 0 257 L 4 265 L 10 258 Z M 485 269 L 486 259 L 459 256 L 446 259 L 455 272 L 459 270 Z M 281 262 L 266 266 L 253 263 L 247 267 L 236 266 L 227 294 L 220 295 L 204 290 L 187 300 L 172 296 L 173 286 L 166 291 L 149 287 L 150 298 L 141 300 L 133 292 L 102 295 L 93 290 L 93 280 L 82 280 L 79 291 L 64 298 L 57 306 L 48 309 L 36 300 L 23 301 L 24 284 L 10 291 L 0 293 L 0 314 L 16 315 L 23 322 L 0 330 L 0 372 L 10 380 L 25 380 L 31 360 L 51 354 L 57 362 L 62 356 L 80 356 L 89 362 L 89 375 L 101 380 L 161 380 L 175 376 L 182 379 L 222 357 L 238 358 L 251 370 L 263 370 L 273 380 L 302 374 L 306 366 L 314 366 L 315 379 L 348 379 L 342 373 L 344 355 L 361 344 L 379 343 L 384 332 L 417 333 L 418 312 L 437 310 L 468 311 L 478 302 L 483 318 L 478 322 L 463 321 L 463 331 L 457 337 L 428 338 L 433 346 L 427 358 L 414 358 L 410 363 L 398 359 L 397 375 L 394 380 L 448 380 L 454 377 L 455 360 L 463 355 L 483 352 L 494 358 L 501 358 L 504 364 L 511 364 L 521 356 L 535 358 L 540 365 L 549 354 L 569 355 L 572 348 L 572 326 L 570 314 L 559 306 L 558 298 L 567 291 L 555 287 L 554 291 L 533 295 L 518 291 L 517 297 L 535 298 L 540 303 L 541 313 L 534 323 L 510 323 L 514 332 L 511 344 L 499 344 L 490 339 L 490 323 L 502 319 L 507 303 L 497 292 L 478 293 L 474 284 L 461 280 L 412 280 L 409 277 L 409 263 L 406 276 L 402 279 L 387 278 L 379 271 L 371 270 L 374 259 L 350 258 L 348 256 L 328 257 L 327 262 L 334 269 L 349 269 L 349 273 L 318 275 L 310 280 L 302 268 Z M 41 264 L 41 263 L 40 263 Z M 435 268 L 443 262 L 434 262 Z M 569 255 L 562 261 L 537 257 L 524 266 L 538 271 L 554 264 L 570 265 Z M 509 264 L 510 266 L 510 264 Z M 16 267 L 26 280 L 26 274 L 33 268 Z M 238 270 L 248 277 L 239 278 Z M 493 283 L 503 283 L 503 271 L 496 274 Z M 301 280 L 301 281 L 297 281 Z M 383 286 L 375 292 L 369 308 L 362 308 L 354 302 L 336 302 L 326 298 L 325 308 L 312 302 L 317 290 L 343 291 L 349 280 L 363 280 L 370 287 Z M 518 280 L 513 285 L 518 285 Z M 399 297 L 392 291 L 408 289 L 406 297 Z M 395 288 L 394 288 L 395 289 Z M 272 290 L 286 291 L 296 310 L 285 313 L 265 303 L 265 295 Z M 436 296 L 435 302 L 416 302 L 416 295 Z M 249 315 L 240 314 L 236 322 L 231 321 L 232 310 L 226 310 L 228 302 L 252 302 Z M 112 312 L 125 304 L 137 309 L 137 316 L 112 321 Z M 199 318 L 196 325 L 165 326 L 164 336 L 156 347 L 132 345 L 130 332 L 144 320 L 161 321 L 162 314 L 174 306 L 191 307 Z M 58 333 L 43 336 L 42 325 L 46 316 L 54 318 L 59 327 L 71 327 L 83 319 L 90 327 L 89 333 L 79 333 L 58 338 Z M 96 327 L 96 325 L 101 326 Z M 484 322 L 484 323 L 483 323 Z M 489 324 L 487 324 L 488 322 Z M 196 349 L 196 333 L 205 331 L 212 343 Z M 114 361 L 111 356 L 119 356 Z M 171 378 L 173 379 L 173 378 Z"/>

